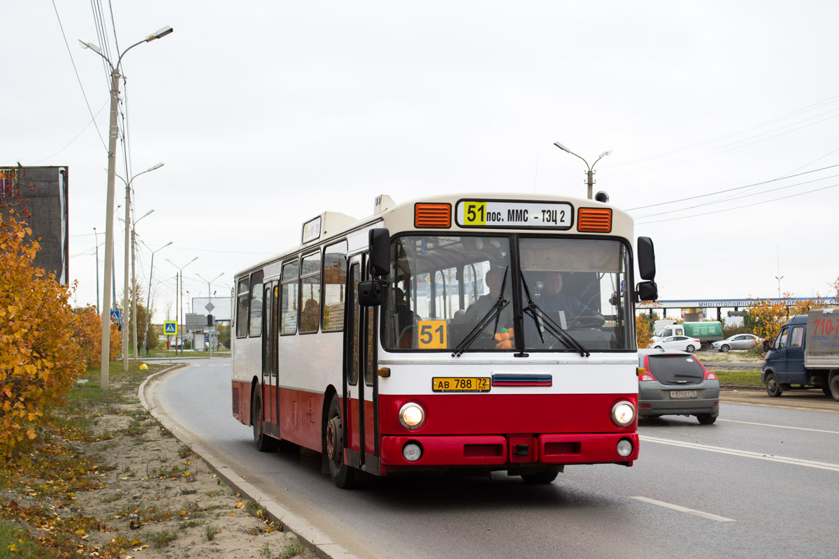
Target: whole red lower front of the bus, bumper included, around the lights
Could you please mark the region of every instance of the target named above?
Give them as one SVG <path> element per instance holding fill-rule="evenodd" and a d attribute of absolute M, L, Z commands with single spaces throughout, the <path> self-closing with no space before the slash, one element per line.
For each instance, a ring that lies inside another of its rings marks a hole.
<path fill-rule="evenodd" d="M 425 410 L 415 431 L 399 423 L 413 401 Z M 638 458 L 637 422 L 618 427 L 612 406 L 638 405 L 636 394 L 379 395 L 382 463 L 390 466 L 517 466 L 526 464 L 632 463 Z M 618 454 L 628 439 L 632 453 Z M 403 456 L 418 443 L 416 462 Z"/>

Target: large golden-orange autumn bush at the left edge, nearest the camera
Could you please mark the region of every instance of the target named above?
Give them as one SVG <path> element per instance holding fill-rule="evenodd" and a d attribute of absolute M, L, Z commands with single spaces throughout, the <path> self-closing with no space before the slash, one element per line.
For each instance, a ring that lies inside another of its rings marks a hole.
<path fill-rule="evenodd" d="M 72 338 L 73 288 L 34 266 L 37 241 L 22 204 L 0 205 L 0 458 L 37 436 L 44 412 L 65 400 L 85 370 Z"/>

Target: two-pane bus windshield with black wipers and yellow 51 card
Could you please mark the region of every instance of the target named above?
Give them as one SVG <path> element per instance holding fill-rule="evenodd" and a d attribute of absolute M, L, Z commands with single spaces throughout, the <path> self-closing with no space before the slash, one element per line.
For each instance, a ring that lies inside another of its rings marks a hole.
<path fill-rule="evenodd" d="M 399 236 L 388 350 L 634 348 L 627 245 L 571 236 Z"/>

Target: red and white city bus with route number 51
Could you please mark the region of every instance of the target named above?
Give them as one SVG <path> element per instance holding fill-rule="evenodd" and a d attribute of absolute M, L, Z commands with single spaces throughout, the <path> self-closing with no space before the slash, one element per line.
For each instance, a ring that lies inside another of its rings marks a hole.
<path fill-rule="evenodd" d="M 233 416 L 261 451 L 357 471 L 550 483 L 638 458 L 634 306 L 652 241 L 589 199 L 464 194 L 364 220 L 325 212 L 300 245 L 237 274 Z"/>

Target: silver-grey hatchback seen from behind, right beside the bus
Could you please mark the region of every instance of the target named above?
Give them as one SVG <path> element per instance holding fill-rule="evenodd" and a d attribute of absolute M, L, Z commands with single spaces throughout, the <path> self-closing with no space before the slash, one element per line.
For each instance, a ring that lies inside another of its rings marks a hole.
<path fill-rule="evenodd" d="M 710 425 L 720 415 L 720 381 L 684 351 L 638 349 L 638 417 L 696 416 Z"/>

